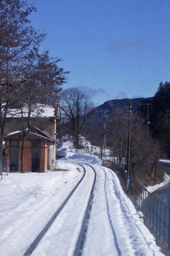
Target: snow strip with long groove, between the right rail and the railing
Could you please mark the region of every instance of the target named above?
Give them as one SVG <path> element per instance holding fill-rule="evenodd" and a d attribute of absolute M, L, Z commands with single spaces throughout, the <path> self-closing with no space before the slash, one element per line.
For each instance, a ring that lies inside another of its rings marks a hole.
<path fill-rule="evenodd" d="M 163 255 L 139 216 L 117 176 L 98 167 L 82 256 Z"/>

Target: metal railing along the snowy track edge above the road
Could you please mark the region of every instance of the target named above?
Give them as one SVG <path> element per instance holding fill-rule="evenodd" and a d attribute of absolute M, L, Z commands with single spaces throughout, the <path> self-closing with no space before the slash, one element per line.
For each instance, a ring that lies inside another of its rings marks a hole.
<path fill-rule="evenodd" d="M 111 168 L 120 177 L 124 188 L 127 185 L 127 173 L 117 166 L 117 164 L 109 163 Z M 159 238 L 166 243 L 168 250 L 170 249 L 170 208 L 167 207 L 156 196 L 147 191 L 145 187 L 138 183 L 134 177 L 131 177 L 128 194 L 133 203 L 143 213 L 143 216 L 159 234 Z"/>

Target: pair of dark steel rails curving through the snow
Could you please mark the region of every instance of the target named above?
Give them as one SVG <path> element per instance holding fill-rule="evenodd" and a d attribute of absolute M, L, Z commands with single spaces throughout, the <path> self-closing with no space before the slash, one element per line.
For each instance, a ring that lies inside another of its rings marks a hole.
<path fill-rule="evenodd" d="M 83 168 L 83 171 L 84 171 L 83 172 L 83 176 L 78 181 L 78 183 L 75 185 L 73 190 L 69 193 L 69 195 L 66 197 L 66 199 L 63 201 L 61 206 L 56 210 L 56 212 L 50 218 L 50 220 L 45 225 L 45 227 L 41 230 L 39 235 L 35 238 L 35 240 L 33 240 L 33 242 L 31 243 L 29 248 L 25 251 L 23 256 L 28 256 L 28 255 L 32 254 L 32 252 L 35 250 L 35 248 L 37 247 L 37 245 L 41 241 L 42 237 L 44 237 L 45 233 L 48 232 L 50 226 L 52 226 L 52 224 L 53 224 L 54 220 L 56 220 L 58 214 L 65 207 L 65 205 L 67 204 L 67 202 L 69 201 L 69 199 L 71 198 L 71 196 L 73 195 L 75 190 L 79 187 L 80 183 L 82 183 L 84 177 L 86 176 L 86 168 L 84 167 L 84 163 L 83 163 L 83 165 L 78 163 L 78 162 L 76 162 L 76 161 L 74 161 L 73 163 L 78 164 L 79 166 L 81 166 Z M 92 166 L 90 166 L 89 164 L 86 164 L 86 166 L 91 167 L 91 169 L 94 171 L 94 181 L 92 183 L 90 197 L 88 199 L 88 204 L 87 204 L 86 212 L 84 213 L 84 217 L 83 217 L 83 221 L 82 221 L 82 226 L 81 226 L 81 229 L 80 229 L 80 232 L 79 232 L 78 240 L 76 242 L 76 246 L 75 246 L 75 250 L 74 250 L 74 256 L 80 256 L 82 254 L 84 237 L 85 237 L 86 229 L 87 229 L 87 221 L 88 221 L 88 217 L 89 217 L 89 214 L 90 214 L 91 201 L 92 201 L 92 198 L 94 196 L 94 188 L 95 188 L 95 183 L 96 183 L 96 172 L 95 172 L 95 169 Z"/>

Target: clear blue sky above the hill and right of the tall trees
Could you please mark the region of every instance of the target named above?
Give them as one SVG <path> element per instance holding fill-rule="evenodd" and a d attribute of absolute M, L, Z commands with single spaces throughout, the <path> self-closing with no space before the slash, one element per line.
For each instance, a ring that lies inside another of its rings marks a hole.
<path fill-rule="evenodd" d="M 96 104 L 154 96 L 170 81 L 169 0 L 35 0 L 41 49 L 70 71 L 63 89 L 80 86 Z"/>

